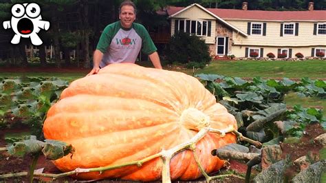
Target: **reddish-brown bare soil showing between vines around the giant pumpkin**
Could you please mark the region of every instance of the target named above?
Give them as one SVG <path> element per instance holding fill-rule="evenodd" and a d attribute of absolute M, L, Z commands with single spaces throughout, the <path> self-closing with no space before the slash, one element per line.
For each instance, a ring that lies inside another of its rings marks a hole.
<path fill-rule="evenodd" d="M 4 140 L 4 134 L 6 133 L 17 133 L 17 132 L 23 132 L 28 131 L 28 129 L 20 128 L 20 129 L 6 129 L 1 130 L 0 133 L 0 147 L 6 146 L 6 142 Z M 303 155 L 307 155 L 308 152 L 310 153 L 316 153 L 318 154 L 318 151 L 322 148 L 320 145 L 313 142 L 313 139 L 319 136 L 322 133 L 325 133 L 326 131 L 323 129 L 323 127 L 320 126 L 320 124 L 314 124 L 309 125 L 307 129 L 305 130 L 305 135 L 303 138 L 301 138 L 301 142 L 298 144 L 284 144 L 281 143 L 281 149 L 283 151 L 282 158 L 285 158 L 286 155 L 290 155 L 290 158 L 292 161 L 296 160 L 297 158 L 300 158 Z M 246 174 L 246 165 L 236 162 L 236 161 L 230 161 L 230 170 L 236 170 L 237 173 L 245 175 Z M 26 155 L 25 158 L 14 158 L 11 157 L 6 151 L 0 151 L 0 175 L 5 173 L 19 173 L 23 171 L 28 171 L 30 164 L 32 164 L 32 157 L 29 155 Z M 36 169 L 42 169 L 43 173 L 61 173 L 58 169 L 56 169 L 56 166 L 52 164 L 50 160 L 45 160 L 43 156 L 41 156 L 36 164 Z M 226 170 L 223 170 L 226 171 Z M 285 175 L 287 177 L 293 177 L 300 171 L 299 167 L 297 166 L 290 166 L 287 171 L 285 172 Z M 50 178 L 37 178 L 41 179 L 43 181 L 50 181 Z M 28 177 L 14 177 L 7 179 L 7 181 L 28 181 Z M 61 181 L 68 181 L 68 182 L 74 182 L 72 177 L 62 177 L 57 180 L 58 182 Z M 105 180 L 105 182 L 130 182 L 130 181 L 123 181 L 123 180 Z M 104 181 L 102 181 L 104 182 Z M 178 181 L 182 182 L 182 181 Z M 204 179 L 195 180 L 193 182 L 205 182 Z M 219 182 L 219 181 L 215 181 Z M 237 178 L 237 177 L 228 177 L 224 179 L 221 182 L 244 182 L 243 180 Z"/>

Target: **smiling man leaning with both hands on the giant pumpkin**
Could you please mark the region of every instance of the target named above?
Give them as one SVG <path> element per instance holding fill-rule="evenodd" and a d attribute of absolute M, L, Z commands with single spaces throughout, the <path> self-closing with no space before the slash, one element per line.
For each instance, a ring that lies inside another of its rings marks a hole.
<path fill-rule="evenodd" d="M 149 55 L 155 68 L 162 69 L 157 48 L 144 26 L 133 22 L 135 15 L 133 2 L 120 4 L 120 21 L 107 25 L 102 32 L 93 56 L 93 69 L 87 76 L 97 74 L 100 68 L 111 63 L 135 63 L 140 50 Z"/>

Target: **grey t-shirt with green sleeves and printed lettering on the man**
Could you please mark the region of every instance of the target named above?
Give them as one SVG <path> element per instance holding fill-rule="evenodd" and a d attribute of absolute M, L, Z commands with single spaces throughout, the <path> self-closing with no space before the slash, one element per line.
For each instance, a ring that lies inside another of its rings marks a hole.
<path fill-rule="evenodd" d="M 127 30 L 116 21 L 102 32 L 96 50 L 104 54 L 100 67 L 105 67 L 110 63 L 135 63 L 140 50 L 152 54 L 157 48 L 143 25 L 133 23 Z"/>

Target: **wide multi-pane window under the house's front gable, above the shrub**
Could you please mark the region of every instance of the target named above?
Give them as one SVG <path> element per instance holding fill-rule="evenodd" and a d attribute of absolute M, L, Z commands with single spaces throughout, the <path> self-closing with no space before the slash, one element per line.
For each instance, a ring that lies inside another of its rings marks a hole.
<path fill-rule="evenodd" d="M 179 31 L 196 36 L 207 36 L 208 34 L 208 21 L 180 20 L 178 23 Z"/>

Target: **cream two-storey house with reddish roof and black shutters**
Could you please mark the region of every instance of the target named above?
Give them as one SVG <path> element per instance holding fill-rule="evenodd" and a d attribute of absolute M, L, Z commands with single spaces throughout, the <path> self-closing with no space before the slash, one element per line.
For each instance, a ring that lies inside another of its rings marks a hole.
<path fill-rule="evenodd" d="M 295 57 L 316 56 L 326 50 L 326 10 L 261 11 L 204 8 L 197 3 L 188 7 L 166 8 L 171 20 L 171 34 L 177 31 L 200 36 L 210 47 L 210 54 L 259 57 L 268 53 Z"/>

